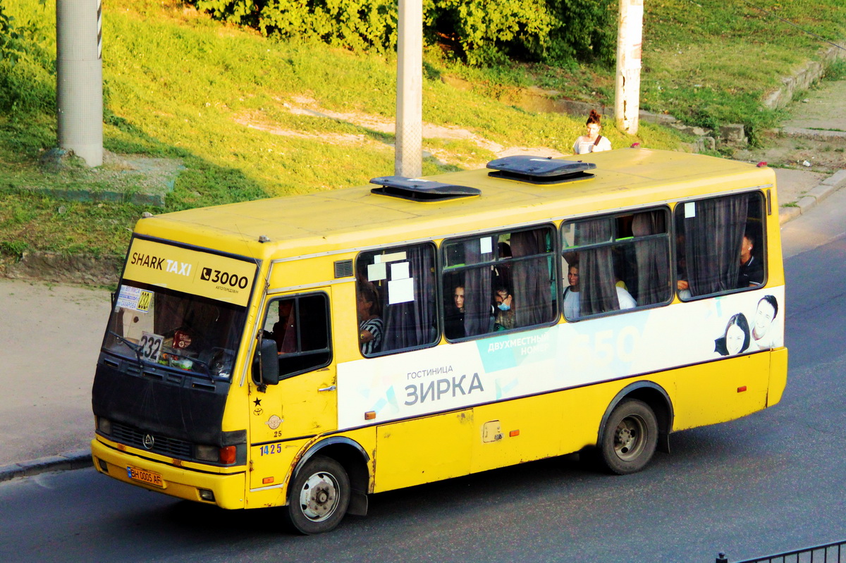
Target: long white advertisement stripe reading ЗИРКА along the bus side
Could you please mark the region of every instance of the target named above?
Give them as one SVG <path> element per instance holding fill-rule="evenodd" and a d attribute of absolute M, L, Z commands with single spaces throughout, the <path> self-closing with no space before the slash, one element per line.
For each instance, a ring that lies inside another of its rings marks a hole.
<path fill-rule="evenodd" d="M 783 346 L 784 288 L 338 364 L 338 428 Z"/>

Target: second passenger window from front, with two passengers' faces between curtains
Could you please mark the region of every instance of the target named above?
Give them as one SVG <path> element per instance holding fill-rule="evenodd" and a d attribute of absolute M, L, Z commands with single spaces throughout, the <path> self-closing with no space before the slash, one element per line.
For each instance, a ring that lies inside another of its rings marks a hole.
<path fill-rule="evenodd" d="M 443 316 L 449 340 L 544 325 L 558 294 L 551 226 L 443 244 Z"/>

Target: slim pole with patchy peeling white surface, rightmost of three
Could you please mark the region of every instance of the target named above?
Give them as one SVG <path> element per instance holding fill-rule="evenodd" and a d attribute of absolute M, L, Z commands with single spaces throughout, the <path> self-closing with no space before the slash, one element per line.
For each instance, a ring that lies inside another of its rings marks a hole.
<path fill-rule="evenodd" d="M 639 125 L 641 41 L 643 0 L 620 0 L 614 117 L 620 130 L 633 135 Z"/>

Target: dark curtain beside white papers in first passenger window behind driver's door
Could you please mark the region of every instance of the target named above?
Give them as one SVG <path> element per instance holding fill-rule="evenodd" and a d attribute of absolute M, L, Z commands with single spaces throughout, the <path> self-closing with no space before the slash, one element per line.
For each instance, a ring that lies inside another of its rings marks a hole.
<path fill-rule="evenodd" d="M 420 245 L 407 247 L 404 251 L 409 261 L 409 275 L 414 278 L 415 299 L 386 303 L 382 352 L 431 344 L 437 331 L 434 249 Z"/>

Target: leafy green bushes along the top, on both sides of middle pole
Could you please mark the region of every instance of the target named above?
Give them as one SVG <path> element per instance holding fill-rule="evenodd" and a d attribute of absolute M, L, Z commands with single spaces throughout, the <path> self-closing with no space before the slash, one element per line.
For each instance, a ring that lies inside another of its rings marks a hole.
<path fill-rule="evenodd" d="M 192 0 L 214 17 L 267 36 L 310 38 L 376 52 L 397 45 L 393 0 Z M 467 63 L 507 58 L 610 65 L 616 2 L 610 0 L 422 0 L 429 44 L 450 46 Z"/>

